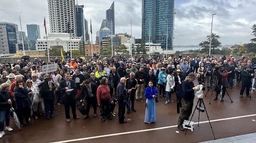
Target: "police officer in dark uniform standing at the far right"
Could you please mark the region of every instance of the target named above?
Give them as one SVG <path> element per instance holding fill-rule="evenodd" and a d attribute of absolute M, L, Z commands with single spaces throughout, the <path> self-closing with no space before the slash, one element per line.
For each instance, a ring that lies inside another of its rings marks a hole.
<path fill-rule="evenodd" d="M 250 66 L 247 65 L 244 67 L 244 70 L 241 72 L 241 81 L 242 81 L 242 87 L 240 90 L 240 97 L 243 97 L 243 92 L 245 91 L 246 87 L 246 96 L 250 98 L 250 86 L 251 86 L 251 80 L 254 74 L 252 73 L 252 70 L 250 69 Z"/>

